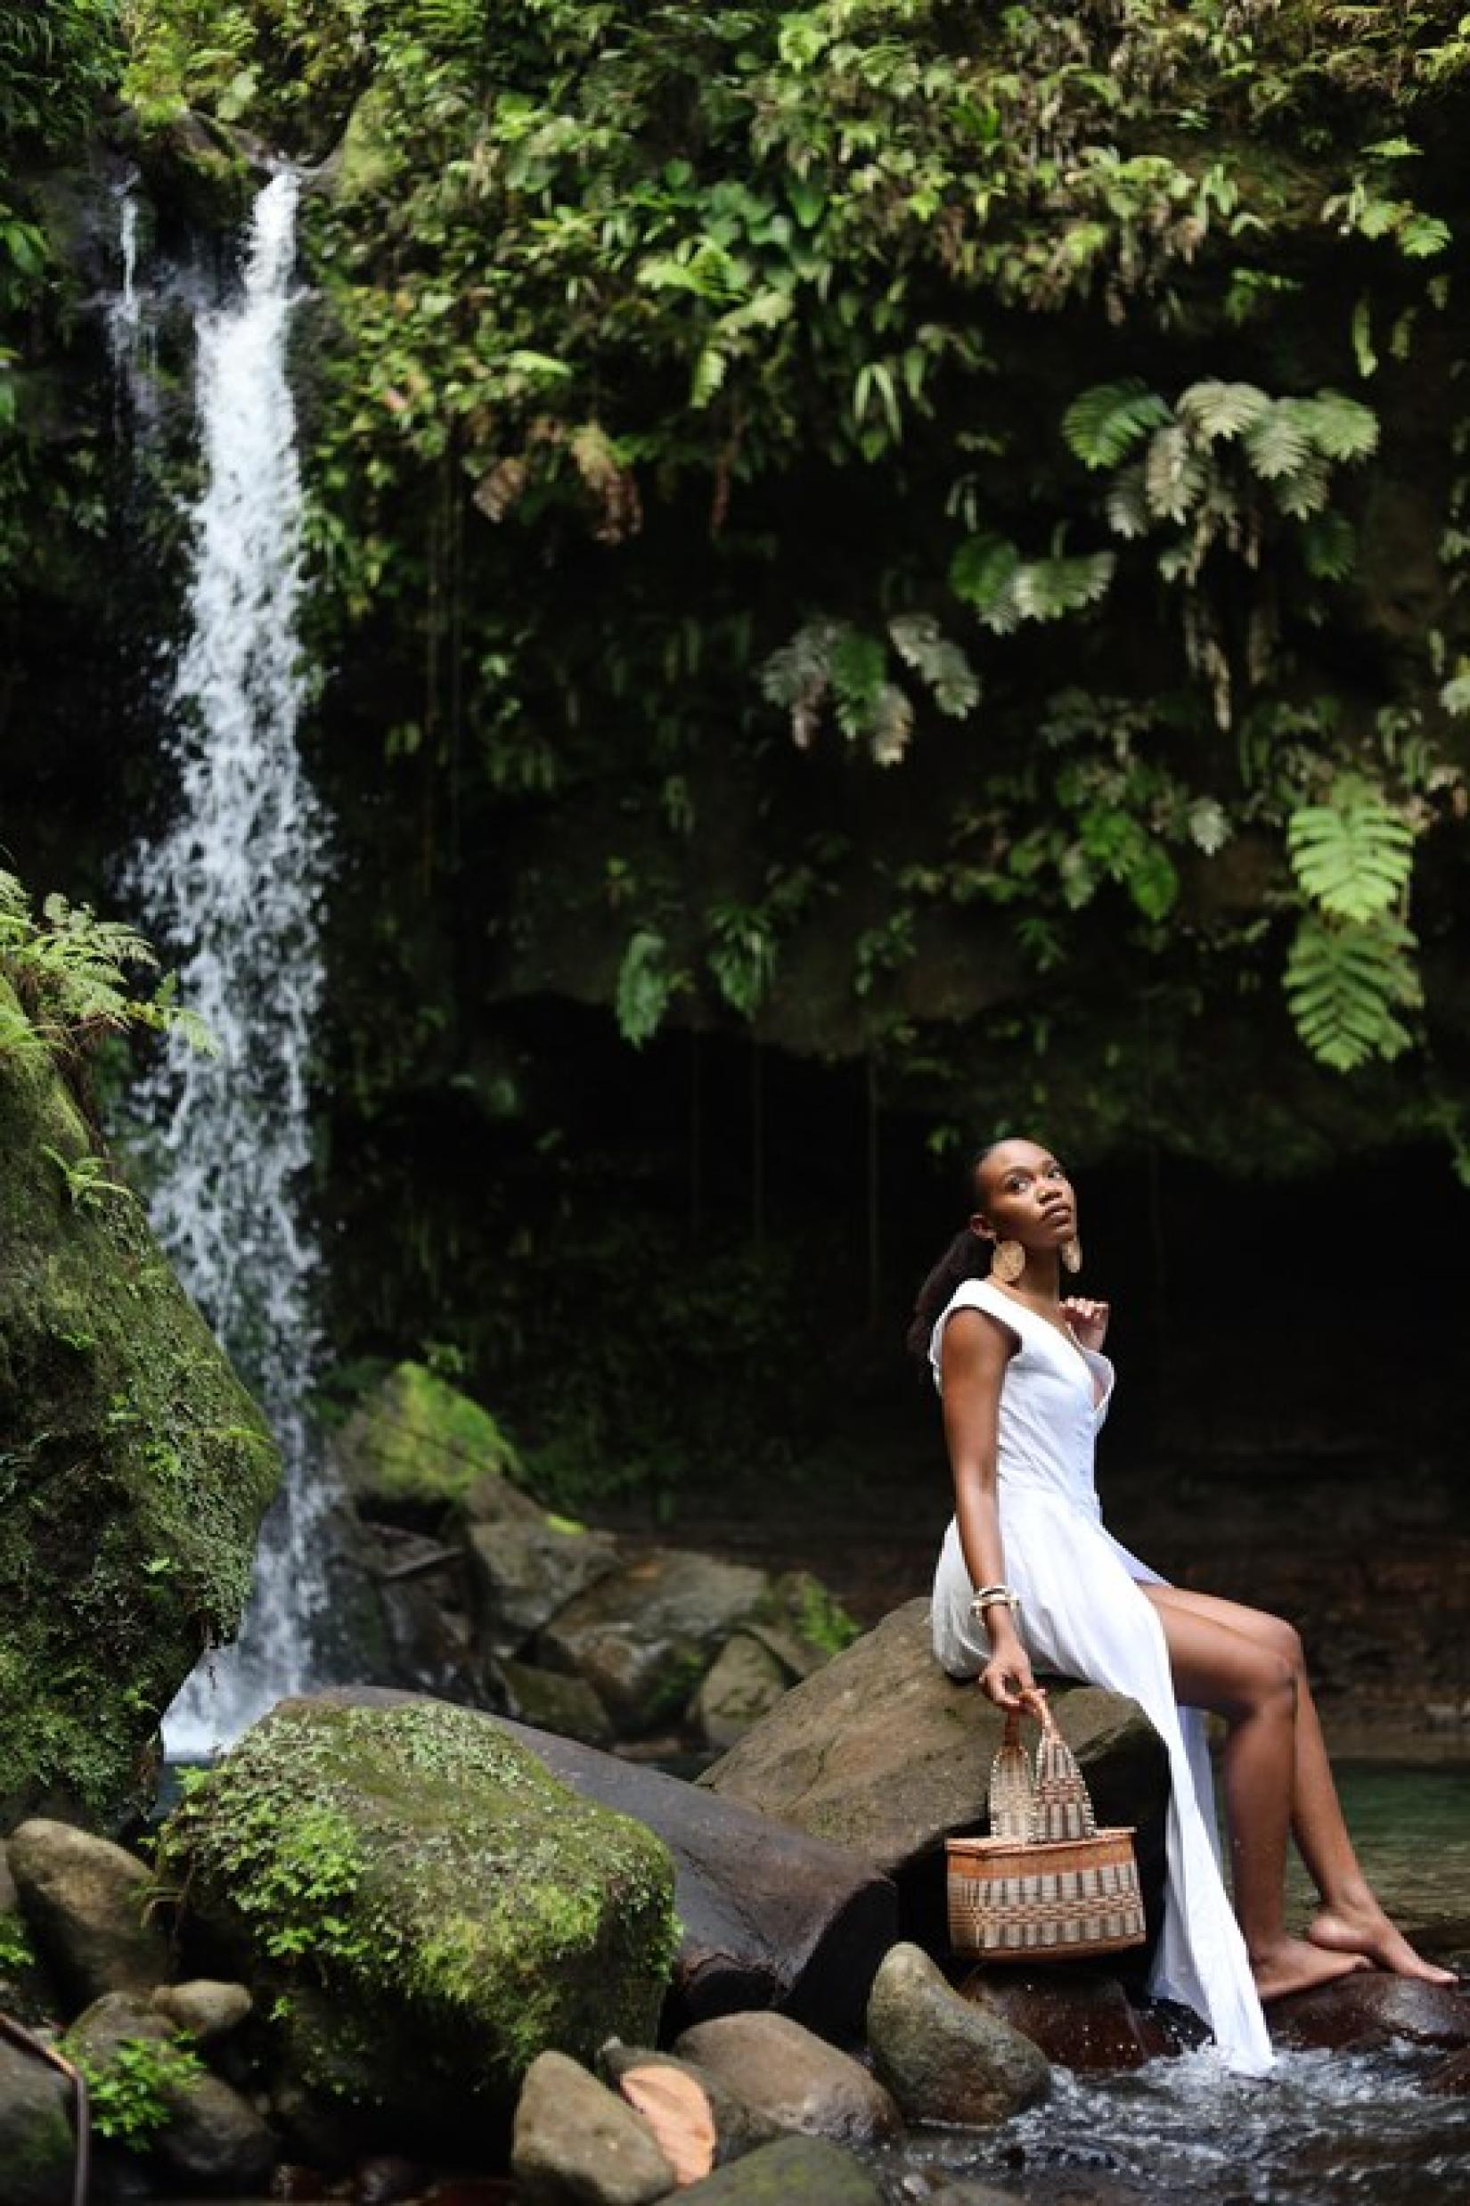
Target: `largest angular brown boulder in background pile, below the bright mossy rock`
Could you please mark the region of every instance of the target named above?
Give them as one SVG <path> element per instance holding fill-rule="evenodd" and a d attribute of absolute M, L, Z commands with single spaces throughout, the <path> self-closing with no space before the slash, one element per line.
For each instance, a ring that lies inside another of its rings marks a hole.
<path fill-rule="evenodd" d="M 769 1602 L 743 1562 L 655 1549 L 602 1577 L 540 1635 L 540 1659 L 584 1677 L 619 1732 L 677 1721 L 714 1654 Z"/>

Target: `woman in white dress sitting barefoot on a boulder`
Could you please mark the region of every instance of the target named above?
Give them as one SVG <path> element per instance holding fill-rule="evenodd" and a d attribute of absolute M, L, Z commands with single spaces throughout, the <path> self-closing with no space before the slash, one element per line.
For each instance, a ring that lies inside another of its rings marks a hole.
<path fill-rule="evenodd" d="M 1093 1443 L 1113 1392 L 1109 1306 L 1060 1293 L 1062 1266 L 1082 1262 L 1067 1174 L 1034 1141 L 998 1141 L 976 1156 L 972 1185 L 970 1227 L 923 1282 L 908 1335 L 943 1394 L 954 1471 L 934 1652 L 998 1707 L 1034 1690 L 1031 1663 L 1144 1707 L 1172 1776 L 1150 1990 L 1195 2007 L 1232 2065 L 1261 2071 L 1263 2001 L 1371 1963 L 1455 1977 L 1419 1959 L 1369 1891 L 1291 1626 L 1168 1586 L 1102 1524 Z M 990 1273 L 976 1277 L 985 1242 Z M 1234 1915 L 1201 1710 L 1228 1723 Z M 1322 1895 L 1305 1937 L 1285 1928 L 1287 1833 Z"/>

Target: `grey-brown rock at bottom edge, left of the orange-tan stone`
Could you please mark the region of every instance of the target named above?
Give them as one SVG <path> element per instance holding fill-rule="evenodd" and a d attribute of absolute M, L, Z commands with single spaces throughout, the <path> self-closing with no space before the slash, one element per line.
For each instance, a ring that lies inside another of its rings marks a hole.
<path fill-rule="evenodd" d="M 555 2052 L 527 2069 L 511 2175 L 525 2206 L 652 2206 L 677 2184 L 644 2118 Z"/>

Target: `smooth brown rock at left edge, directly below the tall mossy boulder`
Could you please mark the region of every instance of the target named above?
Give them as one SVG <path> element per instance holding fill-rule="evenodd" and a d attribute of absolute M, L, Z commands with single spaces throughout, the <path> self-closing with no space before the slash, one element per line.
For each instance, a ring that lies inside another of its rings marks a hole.
<path fill-rule="evenodd" d="M 24 1919 L 73 2005 L 167 1981 L 167 1939 L 145 1919 L 152 1877 L 137 1855 L 35 1816 L 11 1833 L 9 1864 Z"/>

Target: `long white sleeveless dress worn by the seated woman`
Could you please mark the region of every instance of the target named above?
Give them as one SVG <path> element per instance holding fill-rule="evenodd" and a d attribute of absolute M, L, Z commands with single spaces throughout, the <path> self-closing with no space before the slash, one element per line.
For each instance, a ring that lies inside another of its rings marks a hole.
<path fill-rule="evenodd" d="M 1265 2074 L 1272 2041 L 1221 1873 L 1203 1716 L 1177 1705 L 1164 1626 L 1137 1591 L 1139 1579 L 1164 1579 L 1106 1531 L 1093 1485 L 1113 1366 L 994 1282 L 965 1279 L 934 1324 L 934 1385 L 943 1383 L 943 1328 L 968 1308 L 996 1317 L 1018 1343 L 1001 1383 L 996 1493 L 1023 1646 L 1036 1670 L 1128 1694 L 1168 1747 L 1168 1882 L 1148 1990 L 1195 2007 L 1234 2069 Z M 934 1654 L 952 1677 L 976 1677 L 990 1661 L 985 1632 L 970 1615 L 972 1595 L 959 1524 L 950 1520 L 932 1621 Z"/>

